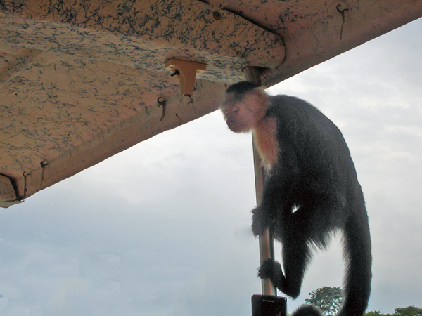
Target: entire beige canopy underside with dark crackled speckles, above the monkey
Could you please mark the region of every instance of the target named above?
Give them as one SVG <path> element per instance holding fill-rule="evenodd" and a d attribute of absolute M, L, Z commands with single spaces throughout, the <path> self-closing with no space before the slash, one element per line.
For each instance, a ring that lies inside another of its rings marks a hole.
<path fill-rule="evenodd" d="M 271 86 L 421 15 L 411 0 L 0 1 L 0 206 L 214 111 L 245 66 Z M 191 98 L 171 58 L 207 65 Z"/>

